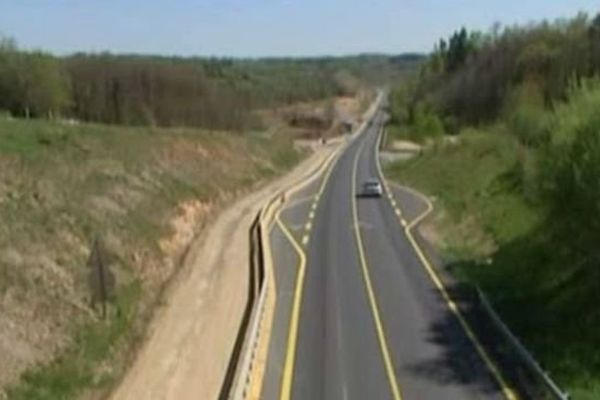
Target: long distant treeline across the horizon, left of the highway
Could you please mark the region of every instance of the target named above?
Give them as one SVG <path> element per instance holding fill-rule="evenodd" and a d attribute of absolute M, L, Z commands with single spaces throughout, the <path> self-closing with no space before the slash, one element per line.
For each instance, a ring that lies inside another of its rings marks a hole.
<path fill-rule="evenodd" d="M 111 54 L 55 57 L 0 40 L 0 110 L 112 124 L 243 129 L 253 110 L 353 94 L 387 57 L 234 60 Z"/>

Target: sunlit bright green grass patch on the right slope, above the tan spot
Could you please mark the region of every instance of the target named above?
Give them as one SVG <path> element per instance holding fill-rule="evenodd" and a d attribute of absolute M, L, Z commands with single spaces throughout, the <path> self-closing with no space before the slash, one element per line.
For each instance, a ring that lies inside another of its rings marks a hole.
<path fill-rule="evenodd" d="M 510 136 L 470 131 L 458 144 L 438 141 L 422 156 L 392 165 L 388 173 L 437 197 L 450 226 L 476 220 L 485 223 L 487 234 L 502 240 L 526 231 L 531 224 L 523 219 L 530 210 L 515 189 L 519 180 L 517 153 L 517 144 Z M 464 250 L 477 253 L 478 249 Z"/>

